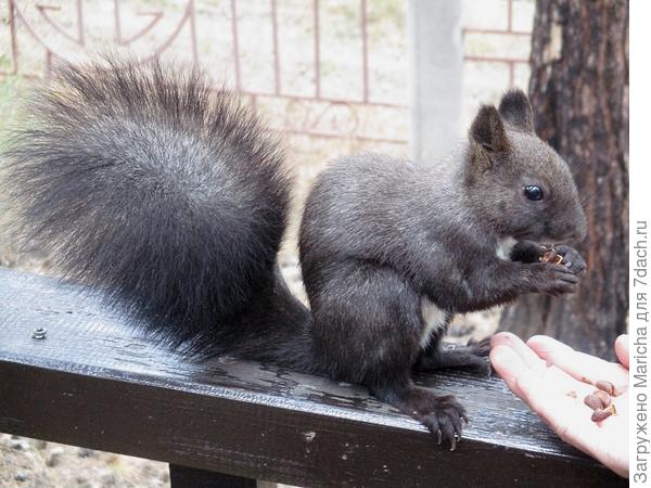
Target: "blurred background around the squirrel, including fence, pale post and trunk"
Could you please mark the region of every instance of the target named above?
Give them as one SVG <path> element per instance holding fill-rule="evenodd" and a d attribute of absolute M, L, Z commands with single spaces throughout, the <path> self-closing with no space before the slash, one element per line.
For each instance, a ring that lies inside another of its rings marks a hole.
<path fill-rule="evenodd" d="M 523 88 L 538 133 L 566 158 L 584 196 L 590 230 L 579 251 L 589 272 L 575 297 L 462 317 L 450 339 L 499 325 L 608 357 L 626 330 L 627 1 L 3 0 L 0 144 L 21 123 L 21 95 L 53 64 L 103 52 L 196 63 L 283 133 L 297 178 L 281 265 L 301 296 L 296 227 L 329 160 L 374 151 L 437 164 L 480 103 Z M 48 256 L 2 233 L 11 215 L 1 210 L 0 266 L 52 272 Z M 0 434 L 0 486 L 167 485 L 161 463 Z"/>

